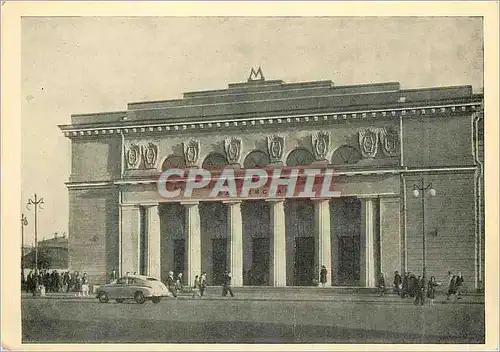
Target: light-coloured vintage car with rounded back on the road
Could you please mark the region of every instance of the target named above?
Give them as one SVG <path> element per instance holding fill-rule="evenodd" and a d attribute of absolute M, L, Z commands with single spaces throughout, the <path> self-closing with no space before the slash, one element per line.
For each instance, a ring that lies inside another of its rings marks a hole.
<path fill-rule="evenodd" d="M 169 295 L 167 287 L 159 279 L 143 275 L 123 276 L 97 290 L 97 298 L 101 303 L 107 303 L 110 299 L 118 303 L 126 299 L 135 299 L 141 304 L 146 300 L 158 303 L 161 297 Z"/>

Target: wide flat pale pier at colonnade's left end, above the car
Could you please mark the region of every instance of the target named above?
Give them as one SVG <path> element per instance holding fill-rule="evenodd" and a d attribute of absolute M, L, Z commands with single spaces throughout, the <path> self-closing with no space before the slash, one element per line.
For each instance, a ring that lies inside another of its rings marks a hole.
<path fill-rule="evenodd" d="M 120 275 L 139 272 L 140 219 L 139 205 L 120 206 Z"/>

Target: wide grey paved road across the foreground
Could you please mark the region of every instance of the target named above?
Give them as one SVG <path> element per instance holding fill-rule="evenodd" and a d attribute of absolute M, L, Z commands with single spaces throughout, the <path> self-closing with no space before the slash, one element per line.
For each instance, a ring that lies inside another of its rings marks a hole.
<path fill-rule="evenodd" d="M 25 343 L 484 343 L 484 305 L 24 297 L 22 333 Z"/>

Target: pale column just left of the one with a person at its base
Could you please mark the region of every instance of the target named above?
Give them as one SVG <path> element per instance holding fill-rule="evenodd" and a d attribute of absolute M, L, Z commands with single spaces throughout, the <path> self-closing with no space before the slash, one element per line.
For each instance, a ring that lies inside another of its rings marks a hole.
<path fill-rule="evenodd" d="M 286 286 L 285 207 L 283 200 L 271 200 L 271 248 L 269 278 L 273 286 Z"/>

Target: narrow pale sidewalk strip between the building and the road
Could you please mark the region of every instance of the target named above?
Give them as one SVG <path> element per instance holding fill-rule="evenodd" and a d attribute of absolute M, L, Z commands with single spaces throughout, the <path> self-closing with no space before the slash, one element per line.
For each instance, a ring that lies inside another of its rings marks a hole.
<path fill-rule="evenodd" d="M 209 287 L 203 300 L 242 300 L 242 301 L 332 301 L 332 302 L 351 302 L 351 303 L 375 303 L 375 304 L 413 304 L 414 298 L 405 298 L 395 294 L 388 294 L 383 297 L 372 293 L 338 293 L 329 292 L 328 290 L 300 290 L 297 292 L 292 290 L 255 290 L 248 288 L 233 288 L 235 297 L 222 297 L 219 287 Z M 74 293 L 47 293 L 45 297 L 33 297 L 32 294 L 22 293 L 23 299 L 79 299 L 79 300 L 95 300 L 96 295 L 91 294 L 88 297 L 77 297 Z M 192 298 L 192 293 L 188 291 L 180 292 L 177 298 L 168 297 L 164 299 L 200 299 Z M 425 304 L 428 304 L 426 300 Z M 437 295 L 434 304 L 484 304 L 484 296 L 475 293 L 465 294 L 461 299 L 446 300 L 446 295 Z"/>

